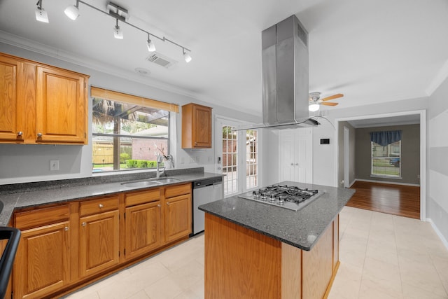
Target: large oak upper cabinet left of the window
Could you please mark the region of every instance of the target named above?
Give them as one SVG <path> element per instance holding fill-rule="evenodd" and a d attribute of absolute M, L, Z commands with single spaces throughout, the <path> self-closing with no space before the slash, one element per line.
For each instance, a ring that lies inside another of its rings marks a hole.
<path fill-rule="evenodd" d="M 0 53 L 0 143 L 87 144 L 88 78 Z"/>

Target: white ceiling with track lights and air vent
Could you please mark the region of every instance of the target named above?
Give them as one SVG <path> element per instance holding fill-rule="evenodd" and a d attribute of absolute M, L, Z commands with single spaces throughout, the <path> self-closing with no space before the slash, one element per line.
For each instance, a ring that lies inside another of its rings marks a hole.
<path fill-rule="evenodd" d="M 84 1 L 103 11 L 108 2 Z M 34 18 L 36 0 L 1 0 L 0 41 L 253 114 L 262 106 L 261 32 L 293 14 L 309 32 L 309 91 L 344 94 L 329 109 L 426 97 L 448 74 L 447 0 L 113 2 L 128 22 L 192 50 L 192 62 L 157 39 L 179 63 L 147 62 L 146 34 L 123 24 L 125 38 L 114 39 L 115 20 L 84 4 L 69 20 L 64 8 L 76 0 L 44 0 L 48 24 Z"/>

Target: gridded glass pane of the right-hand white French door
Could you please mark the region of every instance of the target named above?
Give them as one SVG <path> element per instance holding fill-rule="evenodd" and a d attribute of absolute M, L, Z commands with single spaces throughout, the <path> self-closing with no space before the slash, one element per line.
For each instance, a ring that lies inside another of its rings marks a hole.
<path fill-rule="evenodd" d="M 246 130 L 246 189 L 258 186 L 257 130 Z"/>

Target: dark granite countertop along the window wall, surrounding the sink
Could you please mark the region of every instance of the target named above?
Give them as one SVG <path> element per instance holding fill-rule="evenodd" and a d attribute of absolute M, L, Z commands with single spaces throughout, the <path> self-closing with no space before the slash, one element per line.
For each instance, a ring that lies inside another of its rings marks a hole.
<path fill-rule="evenodd" d="M 160 186 L 223 176 L 223 174 L 204 172 L 202 167 L 195 169 L 167 170 L 167 175 L 176 178 L 179 181 L 164 183 Z M 123 186 L 122 183 L 127 181 L 155 179 L 154 176 L 155 172 L 141 172 L 139 174 L 118 174 L 61 181 L 1 185 L 0 201 L 3 202 L 3 210 L 0 212 L 0 226 L 8 225 L 14 209 L 35 207 L 41 204 L 55 202 L 68 202 L 70 200 L 79 200 L 87 197 L 121 193 L 143 188 L 152 188 L 148 186 L 127 187 Z"/>

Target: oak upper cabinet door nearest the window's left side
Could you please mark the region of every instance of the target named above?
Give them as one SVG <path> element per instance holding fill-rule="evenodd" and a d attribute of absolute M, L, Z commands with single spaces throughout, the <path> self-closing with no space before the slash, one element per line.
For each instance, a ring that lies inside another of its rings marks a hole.
<path fill-rule="evenodd" d="M 36 141 L 85 144 L 87 78 L 37 67 Z"/>

